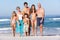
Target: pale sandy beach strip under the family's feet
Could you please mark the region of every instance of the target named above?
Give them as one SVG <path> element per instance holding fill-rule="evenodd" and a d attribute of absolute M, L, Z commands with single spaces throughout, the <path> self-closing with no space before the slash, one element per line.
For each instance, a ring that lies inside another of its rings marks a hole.
<path fill-rule="evenodd" d="M 60 36 L 22 36 L 16 34 L 15 37 L 12 34 L 0 34 L 0 40 L 60 40 Z"/>

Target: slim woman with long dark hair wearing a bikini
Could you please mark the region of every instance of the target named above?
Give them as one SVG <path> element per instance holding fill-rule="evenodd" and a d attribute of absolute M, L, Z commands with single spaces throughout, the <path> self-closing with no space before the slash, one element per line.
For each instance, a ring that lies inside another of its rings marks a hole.
<path fill-rule="evenodd" d="M 35 27 L 36 27 L 36 8 L 35 5 L 33 4 L 30 9 L 31 13 L 31 25 L 32 25 L 32 33 L 35 35 Z"/>

